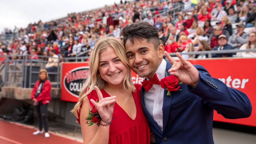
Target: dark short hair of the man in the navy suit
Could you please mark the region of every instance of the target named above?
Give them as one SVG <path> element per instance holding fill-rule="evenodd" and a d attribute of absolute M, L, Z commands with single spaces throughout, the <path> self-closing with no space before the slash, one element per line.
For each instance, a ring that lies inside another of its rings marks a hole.
<path fill-rule="evenodd" d="M 148 22 L 135 22 L 125 26 L 121 35 L 124 36 L 124 46 L 127 40 L 134 44 L 134 39 L 138 39 L 139 41 L 147 39 L 147 42 L 152 43 L 155 49 L 161 44 L 158 30 Z"/>

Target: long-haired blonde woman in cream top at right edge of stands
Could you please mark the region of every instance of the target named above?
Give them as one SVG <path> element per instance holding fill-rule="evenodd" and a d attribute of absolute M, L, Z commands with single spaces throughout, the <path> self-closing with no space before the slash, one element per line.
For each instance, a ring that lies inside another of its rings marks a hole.
<path fill-rule="evenodd" d="M 243 44 L 239 50 L 255 49 L 256 48 L 256 32 L 251 32 L 246 44 Z M 237 52 L 237 56 L 244 58 L 256 57 L 256 52 Z"/>

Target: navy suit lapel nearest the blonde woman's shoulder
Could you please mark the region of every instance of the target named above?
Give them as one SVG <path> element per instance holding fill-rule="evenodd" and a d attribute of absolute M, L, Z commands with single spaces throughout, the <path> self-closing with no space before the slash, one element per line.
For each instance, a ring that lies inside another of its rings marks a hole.
<path fill-rule="evenodd" d="M 156 121 L 153 119 L 153 117 L 149 114 L 147 108 L 145 107 L 144 104 L 144 87 L 141 87 L 141 92 L 140 92 L 140 98 L 141 98 L 141 105 L 142 105 L 142 109 L 144 111 L 144 114 L 148 120 L 149 123 L 151 123 L 155 129 L 157 130 L 158 133 L 154 132 L 156 135 L 158 135 L 159 137 L 162 137 L 162 130 L 160 129 L 160 127 L 158 126 L 158 124 L 156 123 Z M 151 128 L 152 129 L 152 128 Z"/>

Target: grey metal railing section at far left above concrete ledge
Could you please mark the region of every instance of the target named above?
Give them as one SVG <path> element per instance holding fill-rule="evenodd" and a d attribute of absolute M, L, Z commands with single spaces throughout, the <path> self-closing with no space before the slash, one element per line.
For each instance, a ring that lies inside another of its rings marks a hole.
<path fill-rule="evenodd" d="M 38 79 L 40 69 L 45 69 L 48 60 L 43 58 L 51 58 L 49 56 L 38 56 L 41 59 L 29 59 L 33 55 L 7 55 L 4 60 L 4 85 L 15 84 L 17 87 L 32 88 Z M 13 57 L 20 59 L 13 60 Z M 57 58 L 56 58 L 57 59 Z M 47 72 L 51 78 L 51 84 L 57 88 L 60 87 L 60 58 L 58 58 L 58 66 L 56 72 Z"/>

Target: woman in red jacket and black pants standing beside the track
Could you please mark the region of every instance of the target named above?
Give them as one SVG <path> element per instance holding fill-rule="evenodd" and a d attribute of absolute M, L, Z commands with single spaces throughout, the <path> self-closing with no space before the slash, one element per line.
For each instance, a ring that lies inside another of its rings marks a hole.
<path fill-rule="evenodd" d="M 47 108 L 48 104 L 51 100 L 51 89 L 52 85 L 51 82 L 48 80 L 48 74 L 45 69 L 41 69 L 39 71 L 38 81 L 31 92 L 31 99 L 36 107 L 36 112 L 38 115 L 38 123 L 39 123 L 39 130 L 33 132 L 33 135 L 43 134 L 43 123 L 44 122 L 44 137 L 50 137 L 48 133 L 48 117 L 47 117 Z"/>

